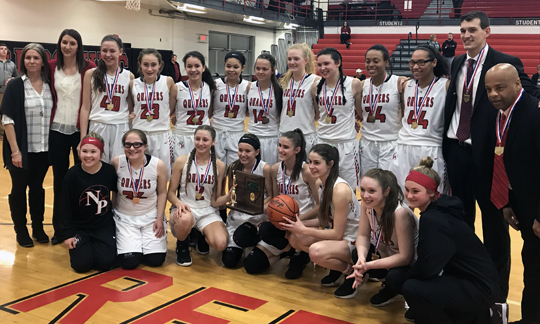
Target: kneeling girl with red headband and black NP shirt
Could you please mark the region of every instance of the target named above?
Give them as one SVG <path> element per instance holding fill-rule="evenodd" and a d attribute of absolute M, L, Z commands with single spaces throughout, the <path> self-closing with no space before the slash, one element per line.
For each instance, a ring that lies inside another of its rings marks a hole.
<path fill-rule="evenodd" d="M 103 154 L 103 138 L 86 135 L 80 145 L 81 163 L 68 170 L 62 185 L 62 233 L 76 272 L 107 271 L 116 259 L 116 171 L 101 162 Z"/>

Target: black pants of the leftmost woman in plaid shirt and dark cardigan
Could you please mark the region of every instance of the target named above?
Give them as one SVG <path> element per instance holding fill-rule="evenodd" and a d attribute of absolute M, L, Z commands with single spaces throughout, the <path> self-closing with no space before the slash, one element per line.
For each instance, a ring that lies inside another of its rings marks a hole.
<path fill-rule="evenodd" d="M 11 194 L 9 195 L 9 209 L 15 231 L 26 227 L 26 188 L 28 188 L 28 205 L 32 228 L 43 228 L 43 214 L 45 213 L 45 190 L 43 179 L 49 170 L 47 152 L 28 153 L 28 169 L 11 167 Z"/>

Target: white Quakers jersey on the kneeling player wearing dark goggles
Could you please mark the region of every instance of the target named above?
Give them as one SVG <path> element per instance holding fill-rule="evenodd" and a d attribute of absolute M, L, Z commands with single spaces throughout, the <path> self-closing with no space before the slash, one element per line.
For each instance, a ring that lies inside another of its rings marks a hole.
<path fill-rule="evenodd" d="M 116 209 L 125 215 L 140 216 L 145 215 L 157 208 L 157 165 L 159 159 L 155 156 L 146 155 L 144 168 L 132 169 L 129 172 L 127 158 L 124 154 L 118 157 L 118 199 Z M 142 173 L 142 179 L 140 179 Z M 134 187 L 140 179 L 140 188 L 137 194 Z M 139 198 L 139 203 L 135 204 L 133 198 Z"/>

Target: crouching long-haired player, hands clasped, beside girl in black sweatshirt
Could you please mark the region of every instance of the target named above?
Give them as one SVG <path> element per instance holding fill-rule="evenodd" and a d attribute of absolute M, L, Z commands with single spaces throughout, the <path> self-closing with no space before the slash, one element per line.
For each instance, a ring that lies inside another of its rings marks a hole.
<path fill-rule="evenodd" d="M 354 273 L 336 290 L 352 298 L 369 277 L 383 281 L 383 289 L 371 297 L 372 306 L 390 303 L 416 258 L 418 217 L 403 205 L 403 192 L 395 175 L 382 169 L 368 170 L 360 182 L 362 198 Z M 336 296 L 337 297 L 337 296 Z"/>

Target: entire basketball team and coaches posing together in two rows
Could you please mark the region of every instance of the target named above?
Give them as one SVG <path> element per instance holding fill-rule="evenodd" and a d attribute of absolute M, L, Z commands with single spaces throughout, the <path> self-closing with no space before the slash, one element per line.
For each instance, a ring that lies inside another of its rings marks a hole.
<path fill-rule="evenodd" d="M 64 242 L 77 272 L 159 267 L 169 227 L 180 266 L 191 265 L 191 246 L 249 275 L 290 258 L 293 280 L 312 261 L 329 269 L 321 285 L 337 286 L 337 298 L 375 278 L 371 305 L 403 295 L 408 320 L 503 323 L 491 321 L 507 310 L 510 225 L 524 240 L 517 323 L 538 324 L 540 90 L 518 58 L 489 47 L 483 12 L 463 15 L 460 30 L 467 53 L 451 67 L 420 45 L 412 77 L 398 77 L 387 72 L 388 50 L 373 45 L 365 81 L 344 75 L 338 50 L 314 57 L 306 44 L 289 47 L 280 80 L 276 60 L 259 55 L 253 82 L 241 78 L 242 53 L 229 52 L 225 77 L 213 80 L 192 51 L 182 59 L 188 80 L 176 84 L 160 75 L 155 49 L 140 52 L 140 77 L 123 69 L 115 35 L 103 38 L 97 66 L 73 29 L 52 61 L 28 44 L 0 110 L 17 242 L 49 242 L 52 165 L 51 243 Z M 264 177 L 263 214 L 227 213 L 235 170 Z M 278 212 L 297 204 L 299 213 L 269 222 L 273 199 Z"/>

